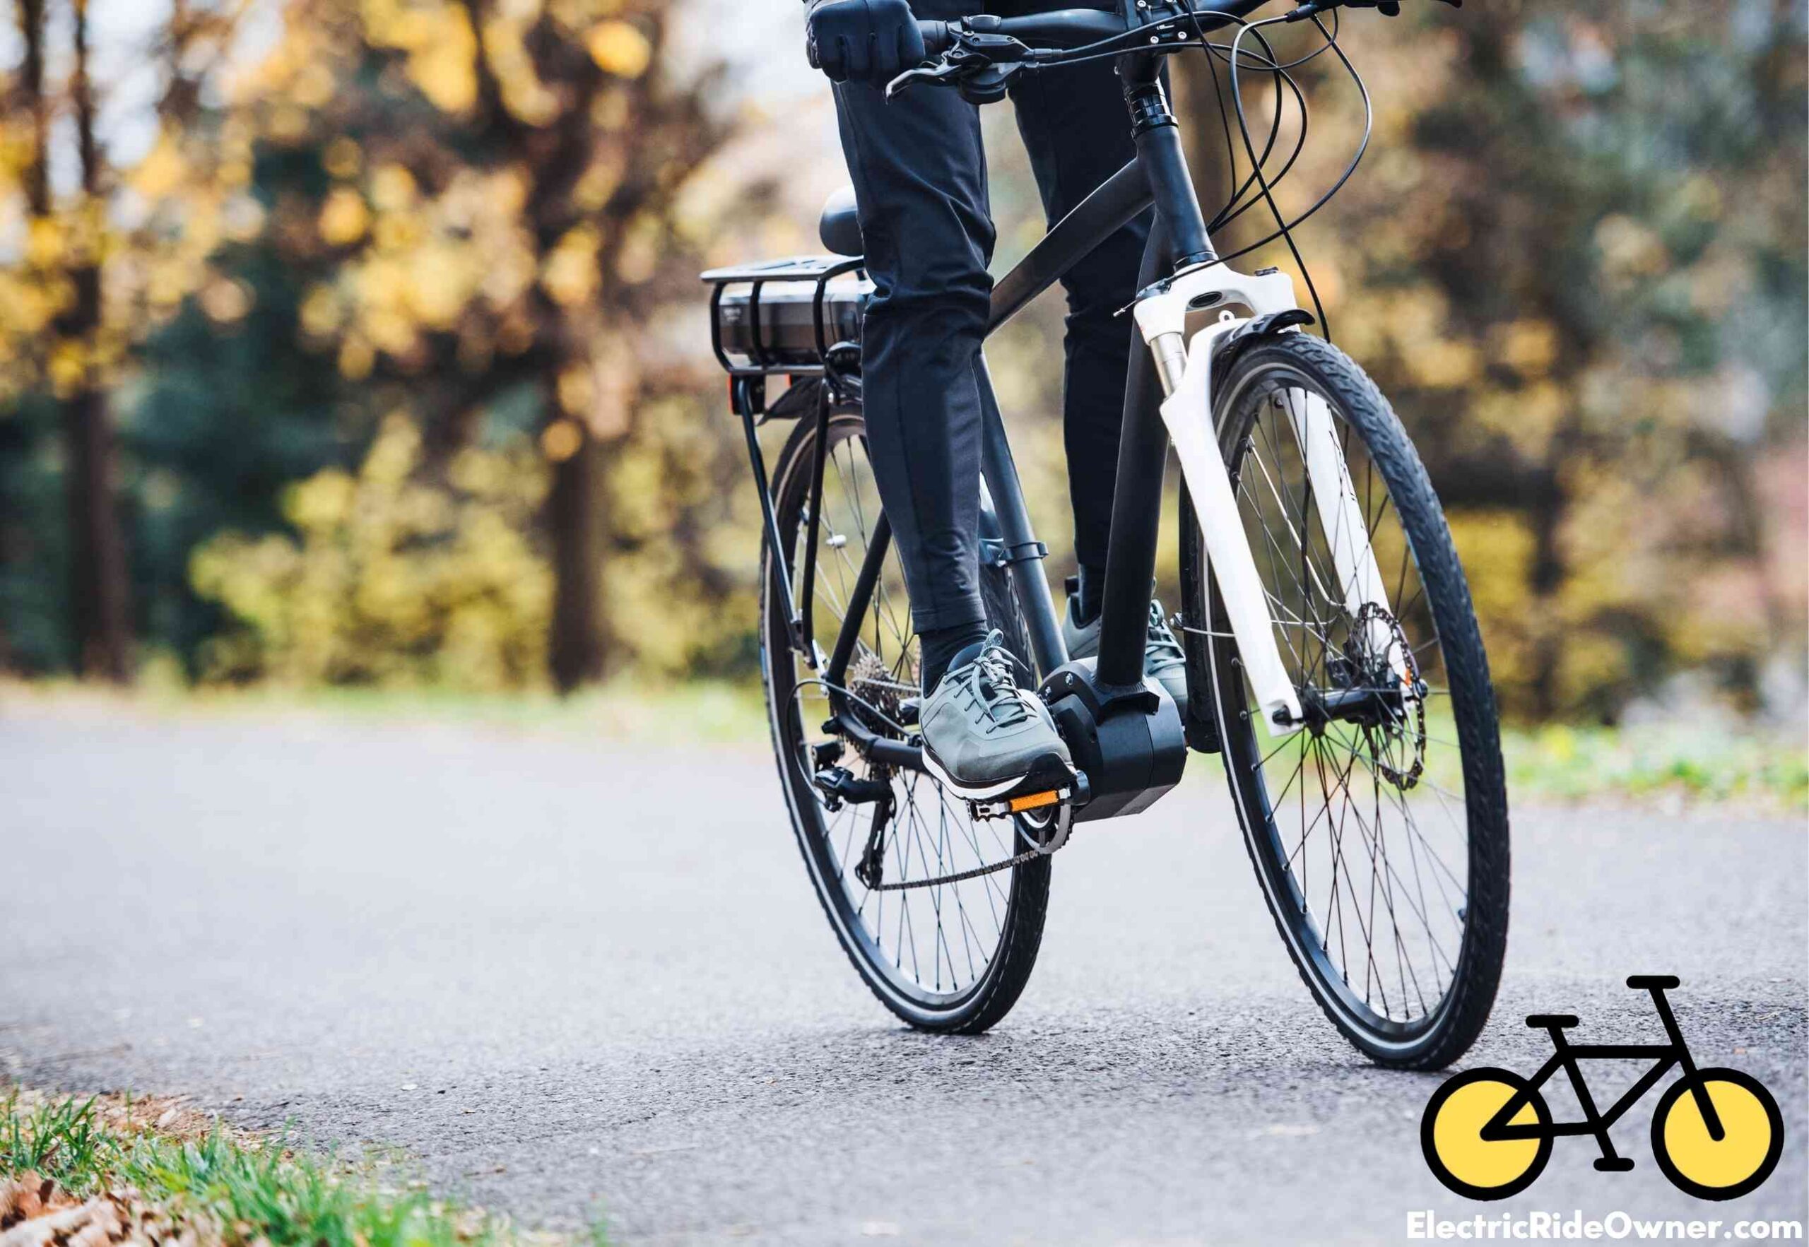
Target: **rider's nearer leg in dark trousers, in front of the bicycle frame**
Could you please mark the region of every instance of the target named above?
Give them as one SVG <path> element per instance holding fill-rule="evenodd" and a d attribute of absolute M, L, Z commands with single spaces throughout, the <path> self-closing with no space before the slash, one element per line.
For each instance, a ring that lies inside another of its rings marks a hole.
<path fill-rule="evenodd" d="M 980 398 L 993 223 L 979 110 L 953 90 L 892 103 L 836 87 L 874 297 L 861 329 L 874 476 L 910 588 L 924 691 L 986 635 L 979 590 Z"/>

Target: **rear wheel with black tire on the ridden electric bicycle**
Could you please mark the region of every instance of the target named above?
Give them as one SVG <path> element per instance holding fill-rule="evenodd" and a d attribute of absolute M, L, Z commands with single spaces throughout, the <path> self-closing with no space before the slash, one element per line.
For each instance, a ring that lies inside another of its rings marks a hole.
<path fill-rule="evenodd" d="M 814 619 L 818 644 L 825 653 L 834 650 L 841 626 L 838 604 L 848 597 L 852 570 L 861 565 L 867 552 L 865 538 L 879 516 L 879 498 L 872 489 L 865 460 L 865 425 L 857 409 L 843 409 L 830 416 L 829 445 Z M 816 420 L 805 416 L 772 471 L 774 509 L 785 559 L 792 568 L 794 594 L 801 585 L 800 554 L 807 534 L 814 456 Z M 838 514 L 838 496 L 843 514 Z M 843 545 L 830 545 L 836 536 L 845 538 Z M 848 688 L 863 691 L 877 711 L 890 709 L 892 697 L 915 695 L 917 682 L 917 646 L 895 550 L 886 557 L 888 570 L 863 615 L 861 652 L 848 673 Z M 980 568 L 980 594 L 986 599 L 990 623 L 1004 633 L 1013 653 L 1028 661 L 1029 644 L 1022 614 L 1004 568 Z M 827 709 L 819 697 L 821 690 L 810 686 L 814 673 L 787 643 L 783 606 L 774 592 L 771 550 L 762 559 L 760 666 L 765 677 L 772 749 L 798 849 L 823 914 L 848 961 L 879 1003 L 910 1026 L 979 1033 L 997 1024 L 1011 1012 L 1037 963 L 1044 914 L 1049 907 L 1049 858 L 1038 856 L 961 883 L 872 892 L 852 871 L 872 827 L 872 805 L 850 804 L 832 813 L 807 773 L 807 766 L 812 766 L 810 747 L 827 740 L 819 733 Z M 861 671 L 867 675 L 857 679 Z M 888 729 L 877 713 L 868 726 Z M 890 731 L 890 735 L 904 733 Z M 971 865 L 997 863 L 1028 849 L 1029 836 L 1035 834 L 1028 823 L 1008 820 L 975 823 L 968 818 L 966 805 L 944 796 L 928 775 L 876 771 L 852 746 L 845 747 L 839 766 L 848 767 L 857 778 L 885 775 L 892 782 L 899 813 L 881 852 L 888 880 L 942 878 Z M 919 852 L 914 860 L 912 840 L 899 829 L 906 818 L 928 818 L 926 811 L 937 818 L 937 831 L 928 845 L 921 834 L 910 833 L 917 834 Z M 935 861 L 930 861 L 932 851 Z M 977 901 L 984 901 L 984 909 Z M 942 925 L 944 909 L 950 910 L 955 927 L 948 936 Z M 894 919 L 895 947 L 888 952 L 888 927 Z M 924 957 L 919 947 L 924 939 L 919 927 L 926 921 L 935 923 L 930 947 L 932 974 L 923 972 Z M 962 943 L 961 965 L 953 947 L 955 936 Z M 906 939 L 914 954 L 908 963 Z M 944 956 L 948 981 L 942 977 Z"/>

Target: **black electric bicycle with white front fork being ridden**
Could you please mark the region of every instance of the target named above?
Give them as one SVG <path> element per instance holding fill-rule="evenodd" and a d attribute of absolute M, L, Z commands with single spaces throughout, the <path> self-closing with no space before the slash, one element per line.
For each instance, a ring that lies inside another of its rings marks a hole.
<path fill-rule="evenodd" d="M 1494 1001 L 1507 793 L 1489 664 L 1449 528 L 1388 400 L 1302 331 L 1315 317 L 1293 282 L 1277 270 L 1239 273 L 1214 252 L 1161 87 L 1163 56 L 1225 58 L 1208 34 L 1237 25 L 1232 87 L 1255 159 L 1237 69 L 1257 63 L 1279 85 L 1299 63 L 1277 60 L 1263 27 L 1304 14 L 1337 47 L 1319 16 L 1337 0 L 1245 22 L 1263 2 L 1123 0 L 1116 13 L 923 22 L 932 60 L 888 87 L 935 83 L 990 101 L 1020 72 L 1118 60 L 1136 159 L 997 281 L 993 329 L 1156 208 L 1129 308 L 1149 355 L 1132 355 L 1127 378 L 1096 661 L 1067 659 L 1040 566 L 1047 547 L 984 355 L 975 360 L 982 595 L 1075 757 L 1046 791 L 968 804 L 923 767 L 917 648 L 861 424 L 870 286 L 852 194 L 823 214 L 834 255 L 704 275 L 713 349 L 760 485 L 762 670 L 780 780 L 838 939 L 910 1026 L 975 1033 L 1002 1019 L 1037 957 L 1051 858 L 1076 823 L 1149 809 L 1190 751 L 1223 755 L 1277 930 L 1359 1050 L 1384 1066 L 1440 1068 L 1469 1048 Z M 1243 51 L 1245 38 L 1263 51 Z M 1257 183 L 1268 195 L 1261 161 L 1239 195 Z M 787 389 L 769 405 L 772 378 Z M 798 424 L 769 480 L 756 429 L 774 418 Z M 1141 668 L 1170 440 L 1183 474 L 1187 722 Z"/>

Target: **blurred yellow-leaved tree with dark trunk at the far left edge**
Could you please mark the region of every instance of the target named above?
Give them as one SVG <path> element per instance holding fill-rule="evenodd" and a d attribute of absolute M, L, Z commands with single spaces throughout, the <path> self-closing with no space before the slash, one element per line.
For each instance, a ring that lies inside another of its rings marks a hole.
<path fill-rule="evenodd" d="M 221 150 L 185 150 L 185 139 L 235 11 L 172 5 L 157 34 L 165 125 L 134 168 L 114 167 L 98 132 L 89 0 L 69 0 L 65 16 L 56 24 L 47 0 L 14 4 L 22 56 L 0 92 L 0 226 L 18 224 L 22 241 L 0 271 L 0 402 L 18 416 L 54 400 L 72 657 L 83 675 L 125 682 L 134 624 L 110 393 L 145 313 L 177 302 L 170 282 L 199 270 L 217 241 L 223 197 L 210 176 L 192 174 L 217 170 Z M 63 27 L 67 49 L 52 49 Z M 67 186 L 52 177 L 58 141 L 72 156 Z M 29 433 L 13 440 L 27 451 L 31 442 Z"/>

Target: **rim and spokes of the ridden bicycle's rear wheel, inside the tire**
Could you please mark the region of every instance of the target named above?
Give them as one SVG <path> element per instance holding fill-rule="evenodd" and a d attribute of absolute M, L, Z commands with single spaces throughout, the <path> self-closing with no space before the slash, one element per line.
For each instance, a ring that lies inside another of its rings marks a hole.
<path fill-rule="evenodd" d="M 814 597 L 814 626 L 825 653 L 834 648 L 872 543 L 874 521 L 881 514 L 859 427 L 857 420 L 830 425 Z M 807 460 L 798 458 L 800 463 Z M 801 483 L 796 489 L 803 492 Z M 796 516 L 789 528 L 796 550 L 791 559 L 792 590 L 801 594 L 807 500 L 794 503 L 791 514 Z M 845 804 L 832 811 L 810 782 L 816 749 L 834 740 L 821 731 L 830 719 L 829 691 L 796 652 L 774 644 L 769 655 L 776 738 L 789 769 L 787 789 L 807 836 L 810 869 L 834 921 L 894 999 L 928 1012 L 959 1010 L 984 986 L 999 961 L 1022 867 L 908 890 L 868 887 L 857 865 L 863 858 L 870 860 L 874 805 Z M 903 735 L 897 702 L 917 697 L 919 648 L 895 550 L 886 556 L 863 617 L 847 688 L 868 728 Z M 1009 820 L 971 820 L 964 804 L 950 800 L 928 775 L 874 767 L 852 746 L 843 749 L 836 766 L 847 767 L 856 780 L 881 778 L 890 784 L 895 813 L 877 852 L 885 883 L 926 881 L 997 865 L 1028 847 Z"/>

